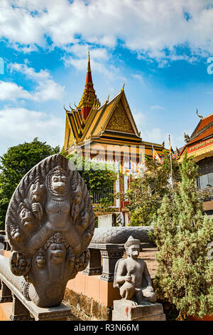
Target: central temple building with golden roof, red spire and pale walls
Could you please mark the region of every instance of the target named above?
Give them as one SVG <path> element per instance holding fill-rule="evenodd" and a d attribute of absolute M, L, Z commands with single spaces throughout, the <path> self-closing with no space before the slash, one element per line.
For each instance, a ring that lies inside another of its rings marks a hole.
<path fill-rule="evenodd" d="M 65 113 L 63 150 L 66 153 L 81 152 L 83 157 L 118 163 L 124 167 L 130 160 L 139 163 L 142 152 L 146 157 L 152 158 L 152 148 L 159 154 L 164 149 L 163 145 L 142 140 L 124 86 L 111 100 L 108 96 L 104 103 L 100 103 L 94 91 L 89 55 L 86 83 L 80 103 L 75 105 L 75 108 L 70 105 L 70 110 L 65 108 Z M 126 192 L 129 187 L 129 176 L 120 175 L 113 187 L 116 192 L 121 192 L 121 187 Z M 104 196 L 107 196 L 106 192 Z M 99 202 L 99 197 L 95 194 L 93 202 Z M 126 202 L 114 200 L 114 209 L 116 212 L 124 212 L 124 222 L 127 224 L 129 219 Z"/>

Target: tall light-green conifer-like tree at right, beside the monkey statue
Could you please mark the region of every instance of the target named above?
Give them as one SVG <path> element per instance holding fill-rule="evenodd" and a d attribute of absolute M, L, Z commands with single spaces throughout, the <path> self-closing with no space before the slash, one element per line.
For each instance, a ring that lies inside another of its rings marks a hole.
<path fill-rule="evenodd" d="M 182 182 L 173 198 L 163 197 L 153 225 L 159 250 L 155 291 L 159 299 L 175 305 L 179 320 L 213 312 L 213 264 L 207 257 L 213 220 L 202 215 L 197 165 L 187 155 L 180 173 Z"/>

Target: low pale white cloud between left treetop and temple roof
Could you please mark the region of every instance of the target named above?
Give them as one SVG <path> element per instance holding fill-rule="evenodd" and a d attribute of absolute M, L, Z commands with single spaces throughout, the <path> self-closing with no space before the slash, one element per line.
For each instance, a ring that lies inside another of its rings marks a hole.
<path fill-rule="evenodd" d="M 64 127 L 65 120 L 54 115 L 25 108 L 6 107 L 0 110 L 0 155 L 9 146 L 31 142 L 35 137 L 62 148 Z"/>

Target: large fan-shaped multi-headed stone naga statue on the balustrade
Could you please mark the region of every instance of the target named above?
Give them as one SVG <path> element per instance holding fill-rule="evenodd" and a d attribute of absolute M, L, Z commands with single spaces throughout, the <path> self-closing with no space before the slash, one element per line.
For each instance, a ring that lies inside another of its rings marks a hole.
<path fill-rule="evenodd" d="M 87 267 L 93 233 L 92 202 L 77 170 L 62 155 L 35 165 L 6 214 L 11 272 L 23 276 L 23 296 L 40 307 L 58 306 L 67 281 Z"/>

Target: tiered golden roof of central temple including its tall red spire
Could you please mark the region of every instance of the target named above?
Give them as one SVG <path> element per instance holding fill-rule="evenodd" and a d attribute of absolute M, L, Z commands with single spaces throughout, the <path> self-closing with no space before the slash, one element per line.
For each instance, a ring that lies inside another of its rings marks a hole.
<path fill-rule="evenodd" d="M 102 145 L 136 145 L 146 147 L 146 155 L 152 154 L 152 145 L 160 153 L 163 145 L 142 141 L 138 132 L 129 103 L 124 93 L 124 86 L 116 96 L 101 105 L 97 98 L 88 57 L 86 83 L 82 98 L 75 108 L 65 108 L 65 144 L 63 150 L 71 153 L 76 147 L 85 143 Z"/>

